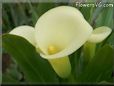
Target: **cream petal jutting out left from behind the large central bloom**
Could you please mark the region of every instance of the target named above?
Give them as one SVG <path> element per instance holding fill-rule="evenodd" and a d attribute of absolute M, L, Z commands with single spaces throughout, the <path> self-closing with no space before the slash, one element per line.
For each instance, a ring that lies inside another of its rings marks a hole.
<path fill-rule="evenodd" d="M 35 29 L 31 26 L 18 26 L 14 28 L 9 34 L 21 36 L 35 46 L 34 33 L 35 33 Z"/>

